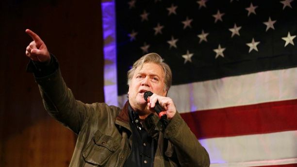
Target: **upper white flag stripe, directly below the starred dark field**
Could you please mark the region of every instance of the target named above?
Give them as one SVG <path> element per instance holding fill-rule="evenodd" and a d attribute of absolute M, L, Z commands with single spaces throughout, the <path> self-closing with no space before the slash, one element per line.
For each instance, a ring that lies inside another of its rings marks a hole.
<path fill-rule="evenodd" d="M 168 97 L 179 113 L 297 99 L 297 67 L 173 85 Z"/>

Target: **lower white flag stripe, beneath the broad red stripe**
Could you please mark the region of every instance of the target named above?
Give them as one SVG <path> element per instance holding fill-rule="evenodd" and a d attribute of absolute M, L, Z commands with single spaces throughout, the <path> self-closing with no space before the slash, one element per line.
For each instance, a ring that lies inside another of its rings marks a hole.
<path fill-rule="evenodd" d="M 255 167 L 297 163 L 297 131 L 199 140 L 211 167 Z"/>

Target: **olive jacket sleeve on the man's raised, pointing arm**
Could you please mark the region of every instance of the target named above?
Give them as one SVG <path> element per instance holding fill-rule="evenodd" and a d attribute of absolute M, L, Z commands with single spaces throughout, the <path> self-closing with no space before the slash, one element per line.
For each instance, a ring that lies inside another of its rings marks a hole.
<path fill-rule="evenodd" d="M 95 104 L 84 104 L 75 100 L 59 68 L 44 77 L 37 78 L 35 75 L 35 80 L 49 115 L 78 134 L 83 123 L 94 114 Z"/>

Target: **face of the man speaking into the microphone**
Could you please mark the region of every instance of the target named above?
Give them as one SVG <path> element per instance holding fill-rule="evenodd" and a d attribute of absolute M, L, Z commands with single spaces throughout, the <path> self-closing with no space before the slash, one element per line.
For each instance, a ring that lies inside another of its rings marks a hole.
<path fill-rule="evenodd" d="M 137 67 L 129 86 L 129 102 L 135 111 L 144 110 L 147 106 L 143 95 L 146 91 L 151 91 L 160 96 L 165 96 L 164 72 L 155 63 L 145 63 L 143 67 Z"/>

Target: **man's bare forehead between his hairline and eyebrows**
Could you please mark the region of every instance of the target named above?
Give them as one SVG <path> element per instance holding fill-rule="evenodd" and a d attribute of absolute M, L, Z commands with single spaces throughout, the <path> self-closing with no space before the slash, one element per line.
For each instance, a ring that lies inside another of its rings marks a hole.
<path fill-rule="evenodd" d="M 156 63 L 144 63 L 142 67 L 137 67 L 134 74 L 146 73 L 148 75 L 156 75 L 163 77 L 163 69 Z"/>

